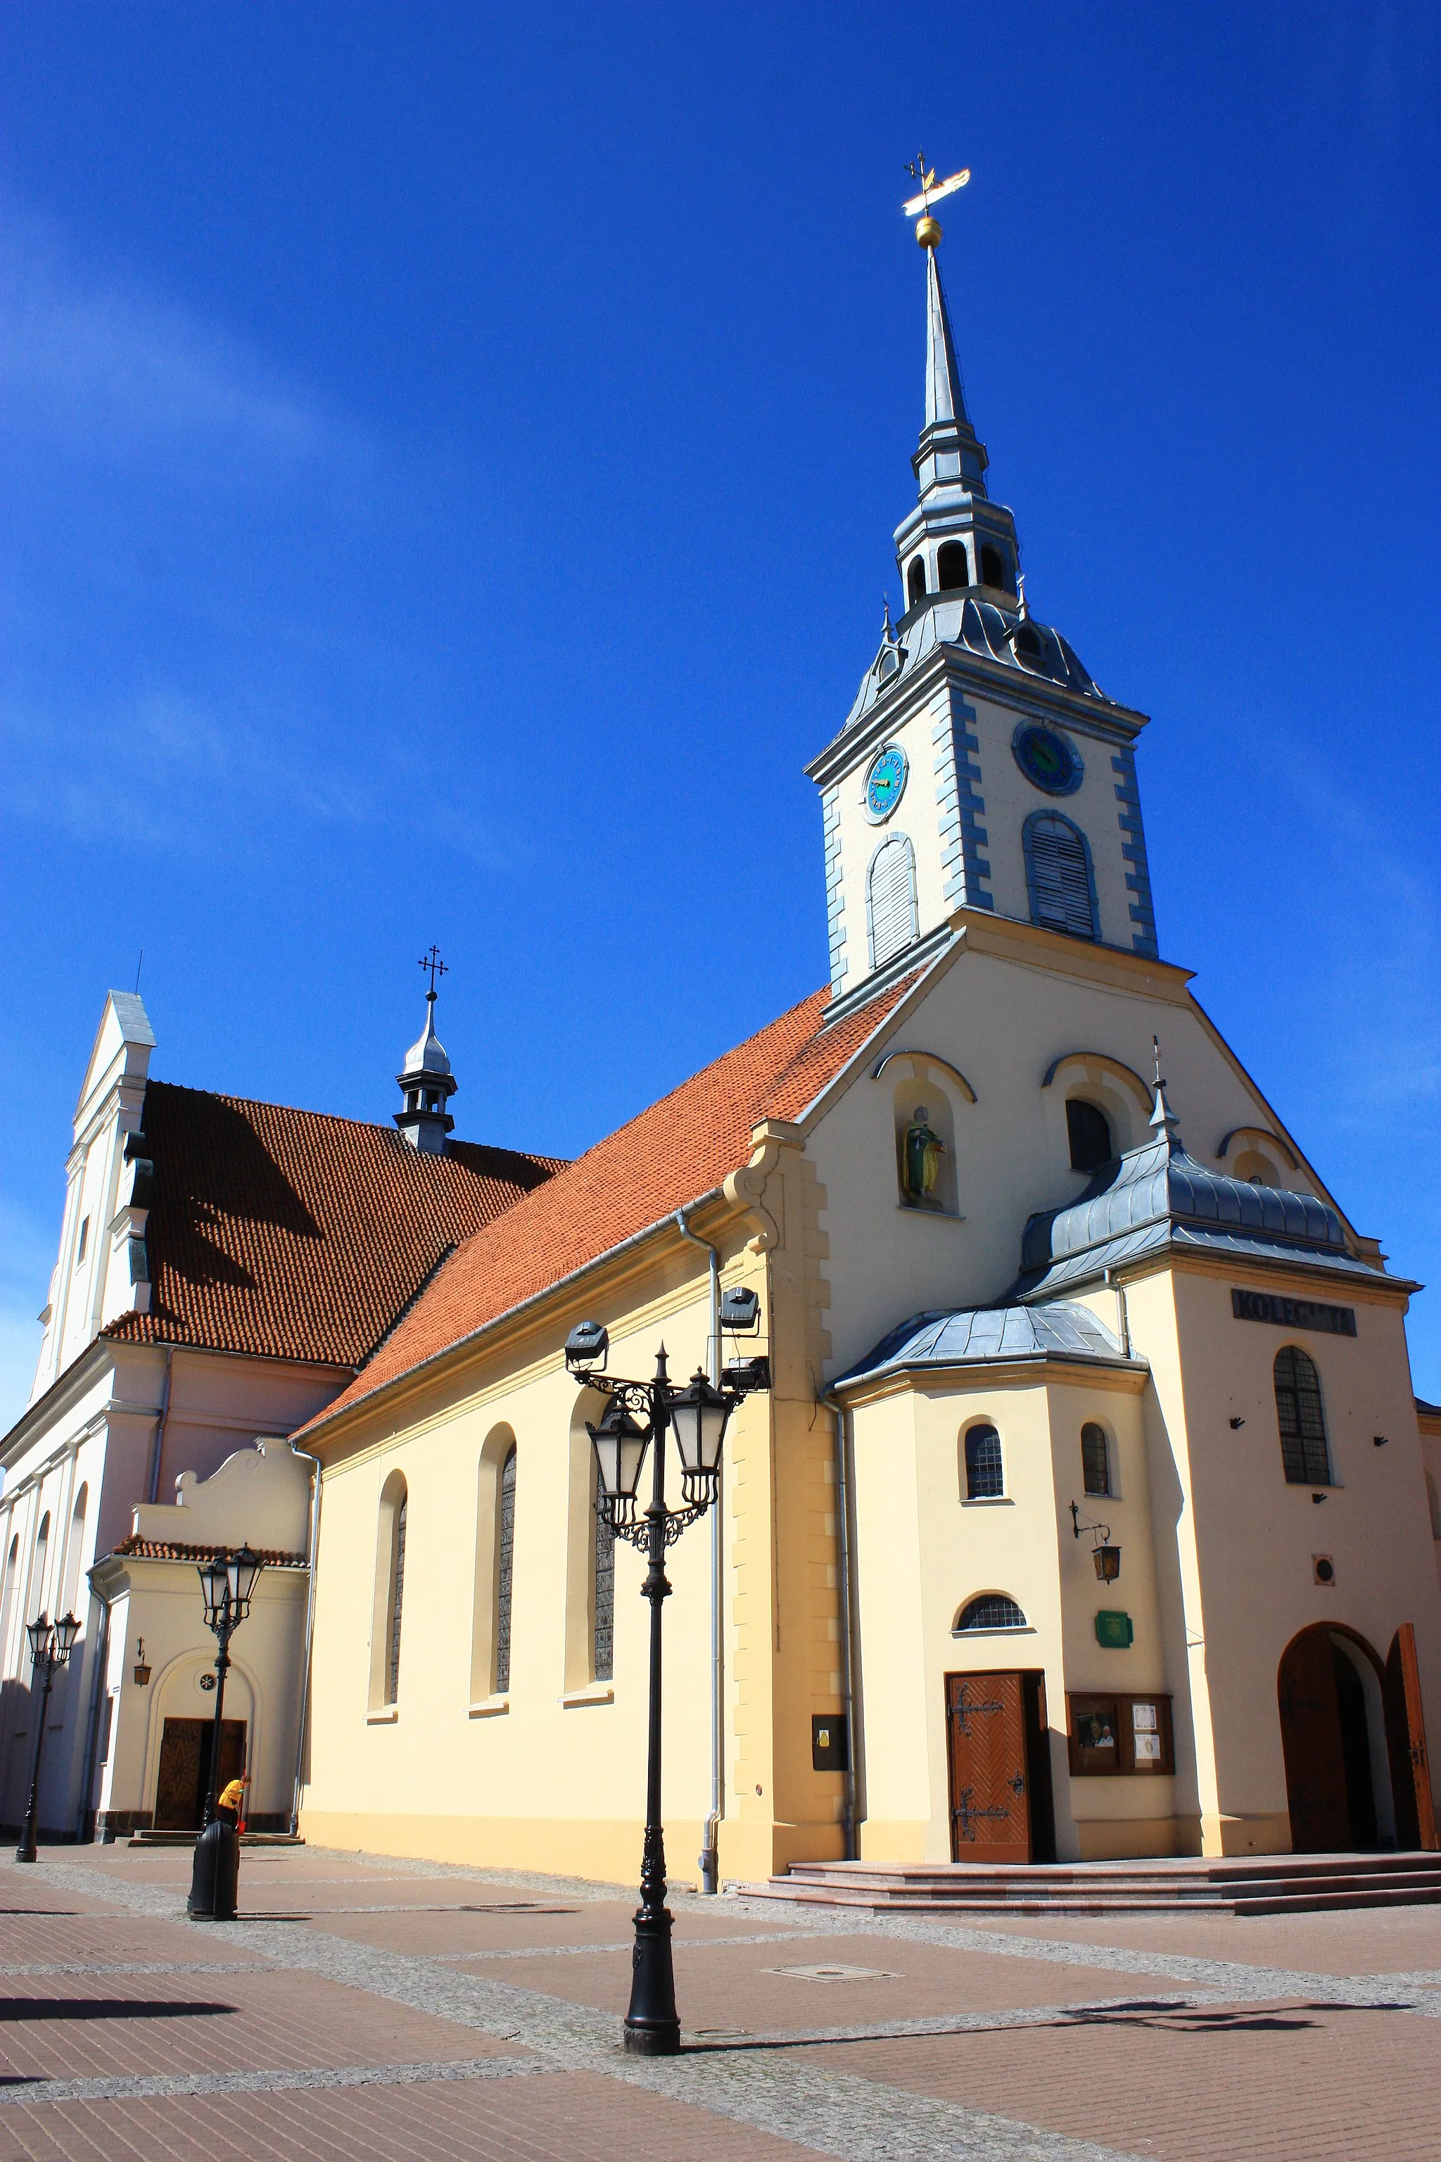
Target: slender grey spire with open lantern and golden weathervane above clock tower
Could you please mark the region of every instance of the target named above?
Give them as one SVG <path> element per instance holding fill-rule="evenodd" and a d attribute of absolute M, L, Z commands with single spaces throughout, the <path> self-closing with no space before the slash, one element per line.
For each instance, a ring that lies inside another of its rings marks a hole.
<path fill-rule="evenodd" d="M 944 233 L 929 208 L 953 182 L 935 188 L 935 175 L 925 173 L 925 162 L 916 177 L 922 188 L 905 210 L 925 212 L 916 221 L 916 240 L 927 255 L 925 426 L 912 458 L 916 508 L 894 536 L 905 612 L 920 608 L 931 595 L 964 592 L 972 586 L 987 588 L 1002 605 L 1013 608 L 1020 566 L 1015 519 L 985 493 L 989 458 L 966 411 L 966 387 L 938 259 Z M 955 175 L 955 184 L 964 186 L 961 175 Z"/>

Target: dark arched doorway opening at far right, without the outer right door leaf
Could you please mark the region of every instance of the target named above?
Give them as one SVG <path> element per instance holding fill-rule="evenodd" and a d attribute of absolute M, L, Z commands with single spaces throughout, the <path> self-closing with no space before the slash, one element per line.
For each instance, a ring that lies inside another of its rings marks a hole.
<path fill-rule="evenodd" d="M 1396 1846 L 1385 1667 L 1365 1637 L 1318 1622 L 1277 1673 L 1285 1803 L 1298 1855 Z"/>

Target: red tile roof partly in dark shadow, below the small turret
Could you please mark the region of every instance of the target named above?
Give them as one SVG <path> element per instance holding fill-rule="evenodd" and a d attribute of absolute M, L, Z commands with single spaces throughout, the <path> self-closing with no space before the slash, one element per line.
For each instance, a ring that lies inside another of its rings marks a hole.
<path fill-rule="evenodd" d="M 361 1366 L 445 1252 L 560 1167 L 171 1081 L 145 1090 L 145 1144 L 151 1310 L 106 1336 L 322 1366 Z"/>

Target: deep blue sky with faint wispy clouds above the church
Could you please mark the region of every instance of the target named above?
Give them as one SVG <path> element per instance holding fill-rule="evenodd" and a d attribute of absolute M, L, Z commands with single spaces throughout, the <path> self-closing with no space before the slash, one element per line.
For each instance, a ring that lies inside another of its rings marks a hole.
<path fill-rule="evenodd" d="M 140 949 L 158 1075 L 385 1120 L 439 938 L 460 1131 L 557 1152 L 823 979 L 918 143 L 1162 951 L 1441 1278 L 1435 6 L 9 0 L 0 71 L 0 1423 Z"/>

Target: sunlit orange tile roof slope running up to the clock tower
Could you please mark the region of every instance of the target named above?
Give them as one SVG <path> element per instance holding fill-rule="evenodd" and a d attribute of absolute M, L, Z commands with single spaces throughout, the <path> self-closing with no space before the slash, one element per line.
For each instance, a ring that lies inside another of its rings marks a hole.
<path fill-rule="evenodd" d="M 497 1224 L 475 1232 L 426 1286 L 363 1373 L 309 1429 L 423 1366 L 635 1232 L 713 1193 L 750 1159 L 765 1118 L 795 1120 L 897 1007 L 914 977 L 821 1029 L 819 990 L 596 1142 Z"/>

